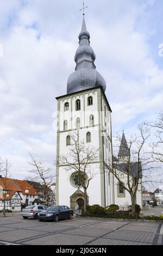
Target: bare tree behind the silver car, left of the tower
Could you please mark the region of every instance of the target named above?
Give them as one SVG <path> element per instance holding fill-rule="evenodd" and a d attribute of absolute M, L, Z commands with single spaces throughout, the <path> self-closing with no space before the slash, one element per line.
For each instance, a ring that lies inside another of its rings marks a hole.
<path fill-rule="evenodd" d="M 41 185 L 43 186 L 44 190 L 44 196 L 45 200 L 47 202 L 47 205 L 50 205 L 50 188 L 52 184 L 52 168 L 45 166 L 44 162 L 37 161 L 31 154 L 30 155 L 30 166 L 32 166 L 32 170 L 30 170 L 30 173 L 34 174 L 34 179 L 39 180 Z"/>

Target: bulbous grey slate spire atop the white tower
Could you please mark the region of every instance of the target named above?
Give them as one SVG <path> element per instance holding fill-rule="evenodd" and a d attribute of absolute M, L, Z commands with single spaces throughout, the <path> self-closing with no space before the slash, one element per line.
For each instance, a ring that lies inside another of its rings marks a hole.
<path fill-rule="evenodd" d="M 68 77 L 67 94 L 98 86 L 102 86 L 105 91 L 106 83 L 96 71 L 95 59 L 96 55 L 90 46 L 90 34 L 86 29 L 83 15 L 82 30 L 79 33 L 79 47 L 74 57 L 76 71 Z"/>

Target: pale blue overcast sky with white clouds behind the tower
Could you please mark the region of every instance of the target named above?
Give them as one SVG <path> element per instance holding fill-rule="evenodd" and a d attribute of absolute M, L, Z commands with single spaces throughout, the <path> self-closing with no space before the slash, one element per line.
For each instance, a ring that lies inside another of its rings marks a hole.
<path fill-rule="evenodd" d="M 29 153 L 52 165 L 56 96 L 66 94 L 82 0 L 0 0 L 0 156 L 29 176 Z M 126 136 L 162 108 L 162 0 L 86 0 L 85 21 L 105 78 L 112 133 Z"/>

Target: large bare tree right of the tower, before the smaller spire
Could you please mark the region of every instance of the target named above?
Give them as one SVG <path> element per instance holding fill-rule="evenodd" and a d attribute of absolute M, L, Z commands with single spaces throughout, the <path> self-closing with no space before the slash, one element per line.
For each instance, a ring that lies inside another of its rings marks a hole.
<path fill-rule="evenodd" d="M 121 137 L 117 136 L 118 142 L 122 143 L 123 150 L 126 155 L 122 155 L 121 159 L 115 157 L 112 166 L 107 166 L 109 172 L 113 173 L 119 184 L 130 194 L 131 213 L 135 216 L 136 193 L 141 190 L 142 178 L 145 182 L 149 182 L 149 170 L 153 169 L 154 160 L 145 153 L 146 142 L 150 136 L 147 126 L 140 124 L 138 126 L 139 137 L 130 136 L 127 143 L 121 141 Z M 122 182 L 120 173 L 126 174 L 126 182 Z"/>

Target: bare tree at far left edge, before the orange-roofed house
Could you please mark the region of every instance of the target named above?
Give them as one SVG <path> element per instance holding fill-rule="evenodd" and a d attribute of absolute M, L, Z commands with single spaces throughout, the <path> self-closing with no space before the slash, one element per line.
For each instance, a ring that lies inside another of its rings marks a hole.
<path fill-rule="evenodd" d="M 3 216 L 5 217 L 5 206 L 6 206 L 6 200 L 7 200 L 7 190 L 9 190 L 9 184 L 8 184 L 8 178 L 10 177 L 9 169 L 11 167 L 11 163 L 8 159 L 5 159 L 4 161 L 1 161 L 0 165 L 0 173 L 2 175 L 2 182 L 3 182 L 3 190 L 4 190 L 4 206 L 3 206 Z"/>

